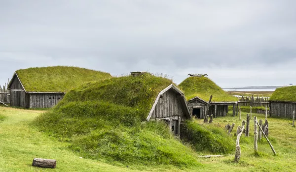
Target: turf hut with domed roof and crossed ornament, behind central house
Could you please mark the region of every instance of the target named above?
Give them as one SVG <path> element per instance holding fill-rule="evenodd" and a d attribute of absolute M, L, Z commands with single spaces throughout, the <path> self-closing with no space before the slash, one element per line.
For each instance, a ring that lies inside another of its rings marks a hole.
<path fill-rule="evenodd" d="M 221 87 L 205 76 L 190 76 L 179 87 L 184 91 L 192 116 L 203 118 L 206 114 L 208 101 L 213 95 L 209 115 L 225 116 L 228 106 L 233 106 L 232 113 L 237 114 L 238 98 L 228 95 Z"/>

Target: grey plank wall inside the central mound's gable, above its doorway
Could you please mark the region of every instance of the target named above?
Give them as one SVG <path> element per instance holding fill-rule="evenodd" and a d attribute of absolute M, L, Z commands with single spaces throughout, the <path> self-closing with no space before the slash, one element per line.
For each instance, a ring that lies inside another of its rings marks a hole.
<path fill-rule="evenodd" d="M 172 90 L 168 90 L 159 98 L 151 118 L 165 118 L 171 116 L 184 116 L 182 106 Z"/>

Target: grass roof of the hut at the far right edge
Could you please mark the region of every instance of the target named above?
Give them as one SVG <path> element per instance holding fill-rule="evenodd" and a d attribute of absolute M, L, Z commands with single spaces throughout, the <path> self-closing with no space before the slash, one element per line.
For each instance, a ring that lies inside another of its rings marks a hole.
<path fill-rule="evenodd" d="M 276 88 L 269 101 L 296 102 L 296 86 Z"/>

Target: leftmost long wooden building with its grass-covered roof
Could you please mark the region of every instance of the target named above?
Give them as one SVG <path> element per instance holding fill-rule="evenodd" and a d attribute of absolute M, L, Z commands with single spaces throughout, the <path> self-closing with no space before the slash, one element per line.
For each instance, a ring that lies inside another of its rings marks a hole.
<path fill-rule="evenodd" d="M 79 67 L 52 66 L 20 69 L 9 82 L 10 106 L 51 108 L 70 89 L 85 82 L 111 78 L 109 73 Z"/>

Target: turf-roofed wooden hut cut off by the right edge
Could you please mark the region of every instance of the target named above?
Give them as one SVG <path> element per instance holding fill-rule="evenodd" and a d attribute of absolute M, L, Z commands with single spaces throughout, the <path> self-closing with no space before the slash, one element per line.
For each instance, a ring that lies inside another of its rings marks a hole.
<path fill-rule="evenodd" d="M 296 111 L 296 86 L 277 88 L 269 99 L 270 116 L 291 117 Z"/>

